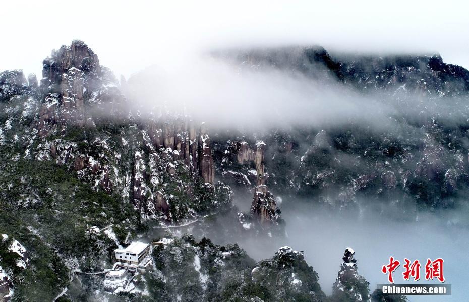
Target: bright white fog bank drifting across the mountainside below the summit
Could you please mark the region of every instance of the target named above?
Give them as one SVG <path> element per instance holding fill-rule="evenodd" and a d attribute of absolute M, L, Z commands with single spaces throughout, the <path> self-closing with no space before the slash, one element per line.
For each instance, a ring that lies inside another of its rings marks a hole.
<path fill-rule="evenodd" d="M 336 82 L 317 83 L 297 74 L 253 67 L 240 70 L 219 59 L 193 57 L 172 68 L 152 66 L 131 78 L 132 103 L 158 106 L 222 127 L 261 128 L 301 124 L 340 125 L 350 118 L 389 128 L 392 105 Z M 143 75 L 143 76 L 142 76 Z M 184 110 L 183 110 L 184 108 Z"/>

